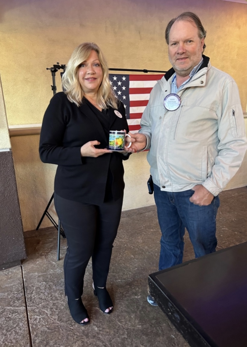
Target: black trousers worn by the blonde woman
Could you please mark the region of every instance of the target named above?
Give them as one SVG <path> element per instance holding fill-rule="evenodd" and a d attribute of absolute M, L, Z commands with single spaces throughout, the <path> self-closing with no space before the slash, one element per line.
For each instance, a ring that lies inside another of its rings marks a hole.
<path fill-rule="evenodd" d="M 65 295 L 77 299 L 83 293 L 83 279 L 90 257 L 94 285 L 106 286 L 123 197 L 91 205 L 67 200 L 54 193 L 54 204 L 68 245 L 63 265 Z"/>

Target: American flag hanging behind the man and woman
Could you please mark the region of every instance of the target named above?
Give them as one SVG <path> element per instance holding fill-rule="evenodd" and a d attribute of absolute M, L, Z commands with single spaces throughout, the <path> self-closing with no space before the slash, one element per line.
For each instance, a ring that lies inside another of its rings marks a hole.
<path fill-rule="evenodd" d="M 148 104 L 153 86 L 164 75 L 119 75 L 109 74 L 112 88 L 125 107 L 126 118 L 132 133 L 137 133 L 140 120 Z"/>

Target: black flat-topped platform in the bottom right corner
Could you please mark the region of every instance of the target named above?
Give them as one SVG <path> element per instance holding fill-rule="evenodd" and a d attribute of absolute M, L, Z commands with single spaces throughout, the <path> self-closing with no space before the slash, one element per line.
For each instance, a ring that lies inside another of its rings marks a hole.
<path fill-rule="evenodd" d="M 150 294 L 192 347 L 247 347 L 247 242 L 149 275 Z"/>

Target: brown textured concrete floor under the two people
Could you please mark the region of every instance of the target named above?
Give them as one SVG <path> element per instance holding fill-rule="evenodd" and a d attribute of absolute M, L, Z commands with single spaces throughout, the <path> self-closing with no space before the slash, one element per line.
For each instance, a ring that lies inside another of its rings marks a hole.
<path fill-rule="evenodd" d="M 247 188 L 220 194 L 217 249 L 247 241 Z M 147 303 L 148 274 L 157 271 L 160 230 L 156 207 L 124 211 L 114 243 L 107 287 L 114 313 L 104 315 L 92 292 L 91 263 L 83 303 L 90 324 L 75 323 L 63 290 L 63 258 L 56 261 L 55 228 L 25 232 L 28 258 L 0 271 L 0 341 L 2 347 L 188 347 L 159 307 Z M 184 261 L 194 253 L 185 236 Z"/>

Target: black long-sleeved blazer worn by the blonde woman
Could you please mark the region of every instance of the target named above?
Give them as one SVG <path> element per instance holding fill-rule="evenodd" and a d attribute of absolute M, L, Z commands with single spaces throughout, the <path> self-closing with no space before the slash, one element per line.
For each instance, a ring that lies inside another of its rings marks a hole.
<path fill-rule="evenodd" d="M 129 132 L 125 109 L 120 104 L 118 117 L 110 108 L 110 129 Z M 44 163 L 58 164 L 54 191 L 59 196 L 91 204 L 104 201 L 108 169 L 113 176 L 114 200 L 123 196 L 124 168 L 122 160 L 129 158 L 119 152 L 97 158 L 81 157 L 81 146 L 88 141 L 100 142 L 98 148 L 108 148 L 109 136 L 104 133 L 97 116 L 87 103 L 77 107 L 63 92 L 56 93 L 48 105 L 40 134 L 39 155 Z"/>

